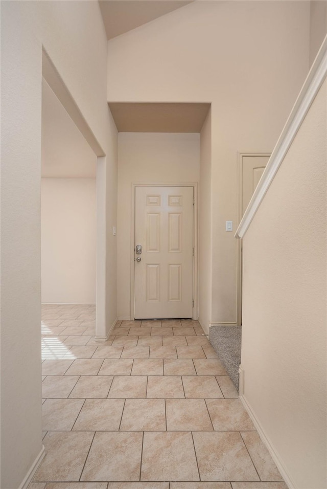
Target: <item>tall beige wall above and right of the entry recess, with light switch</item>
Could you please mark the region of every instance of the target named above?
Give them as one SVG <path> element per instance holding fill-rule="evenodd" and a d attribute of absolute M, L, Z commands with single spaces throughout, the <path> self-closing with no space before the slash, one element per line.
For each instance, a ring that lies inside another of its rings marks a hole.
<path fill-rule="evenodd" d="M 194 2 L 108 42 L 108 100 L 212 102 L 212 311 L 236 324 L 237 152 L 271 151 L 309 69 L 309 2 Z M 203 324 L 205 328 L 208 324 Z"/>

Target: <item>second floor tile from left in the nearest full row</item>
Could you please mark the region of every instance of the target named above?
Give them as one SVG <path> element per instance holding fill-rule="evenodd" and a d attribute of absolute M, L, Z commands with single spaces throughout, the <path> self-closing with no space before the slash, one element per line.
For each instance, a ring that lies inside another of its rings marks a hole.
<path fill-rule="evenodd" d="M 80 480 L 139 480 L 141 432 L 97 432 Z"/>

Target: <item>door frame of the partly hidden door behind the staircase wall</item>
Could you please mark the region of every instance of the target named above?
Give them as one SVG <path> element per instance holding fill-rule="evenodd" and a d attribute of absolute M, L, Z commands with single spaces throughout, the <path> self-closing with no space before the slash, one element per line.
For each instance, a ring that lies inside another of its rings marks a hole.
<path fill-rule="evenodd" d="M 240 151 L 238 154 L 238 207 L 237 207 L 237 226 L 242 219 L 243 201 L 243 158 L 270 158 L 271 151 Z M 237 239 L 237 302 L 236 320 L 237 325 L 242 326 L 242 275 L 243 275 L 243 240 Z"/>

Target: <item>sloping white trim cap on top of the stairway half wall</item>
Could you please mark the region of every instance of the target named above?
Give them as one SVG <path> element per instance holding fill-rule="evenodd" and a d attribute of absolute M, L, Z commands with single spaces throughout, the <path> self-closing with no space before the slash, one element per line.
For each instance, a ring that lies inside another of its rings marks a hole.
<path fill-rule="evenodd" d="M 256 187 L 250 203 L 244 212 L 243 218 L 235 234 L 236 238 L 243 238 L 248 230 L 256 211 L 263 201 L 263 198 L 270 187 L 279 166 L 281 166 L 285 155 L 302 124 L 303 119 L 306 117 L 306 114 L 327 75 L 326 54 L 327 36 L 324 38 L 321 48 L 312 64 L 311 70 L 309 71 L 306 81 L 303 83 L 299 96 L 297 97 L 291 114 L 284 126 L 282 134 L 271 153 L 270 160 L 265 171 L 263 172 L 258 187 Z"/>

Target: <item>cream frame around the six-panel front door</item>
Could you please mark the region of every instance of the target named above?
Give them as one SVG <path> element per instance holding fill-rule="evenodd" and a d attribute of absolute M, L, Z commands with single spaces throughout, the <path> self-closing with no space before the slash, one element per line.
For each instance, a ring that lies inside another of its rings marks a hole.
<path fill-rule="evenodd" d="M 192 319 L 198 319 L 198 183 L 197 182 L 150 182 L 131 184 L 131 299 L 130 317 L 135 319 L 135 192 L 136 187 L 193 187 L 193 315 Z"/>

